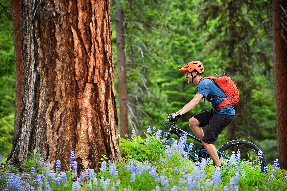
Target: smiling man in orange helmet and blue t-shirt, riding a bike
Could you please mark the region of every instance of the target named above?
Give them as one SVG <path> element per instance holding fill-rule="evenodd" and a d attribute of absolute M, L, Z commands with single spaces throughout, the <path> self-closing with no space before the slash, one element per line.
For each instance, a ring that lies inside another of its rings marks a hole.
<path fill-rule="evenodd" d="M 234 107 L 232 105 L 223 109 L 216 107 L 224 100 L 216 98 L 226 98 L 226 95 L 214 82 L 209 79 L 202 79 L 201 75 L 204 69 L 201 62 L 191 61 L 179 69 L 179 71 L 185 71 L 188 83 L 194 83 L 197 85 L 197 89 L 193 99 L 178 112 L 169 114 L 167 119 L 170 122 L 178 120 L 183 114 L 195 108 L 202 98 L 211 102 L 213 109 L 201 112 L 190 118 L 189 126 L 195 136 L 202 140 L 202 145 L 207 150 L 214 164 L 221 166 L 214 142 L 216 142 L 222 130 L 234 120 Z M 215 99 L 208 99 L 210 97 Z M 207 126 L 207 129 L 203 134 L 202 127 L 204 126 Z"/>

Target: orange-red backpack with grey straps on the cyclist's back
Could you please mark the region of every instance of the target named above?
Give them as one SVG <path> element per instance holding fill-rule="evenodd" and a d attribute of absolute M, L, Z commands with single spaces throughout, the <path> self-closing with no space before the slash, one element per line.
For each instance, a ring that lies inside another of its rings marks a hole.
<path fill-rule="evenodd" d="M 212 98 L 212 97 L 207 97 L 210 101 L 215 100 L 215 99 L 225 99 L 224 101 L 220 102 L 216 108 L 221 110 L 223 108 L 226 108 L 227 106 L 233 105 L 236 106 L 240 100 L 239 98 L 239 91 L 234 82 L 230 77 L 224 73 L 224 76 L 218 76 L 216 73 L 214 76 L 208 76 L 208 77 L 203 77 L 202 79 L 212 79 L 213 82 L 219 87 L 225 94 L 226 98 Z M 202 80 L 201 79 L 201 80 Z M 204 107 L 204 100 L 203 100 L 203 107 Z"/>

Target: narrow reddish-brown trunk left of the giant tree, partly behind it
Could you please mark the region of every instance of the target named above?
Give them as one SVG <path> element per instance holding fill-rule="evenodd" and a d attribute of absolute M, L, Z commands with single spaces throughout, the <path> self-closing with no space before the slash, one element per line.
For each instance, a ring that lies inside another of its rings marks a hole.
<path fill-rule="evenodd" d="M 12 21 L 13 25 L 13 39 L 14 39 L 14 55 L 15 55 L 15 118 L 14 118 L 14 137 L 17 135 L 19 127 L 19 118 L 22 108 L 22 80 L 23 80 L 23 56 L 21 51 L 22 39 L 22 11 L 21 1 L 11 0 L 11 9 L 18 15 L 13 15 L 16 22 Z"/>

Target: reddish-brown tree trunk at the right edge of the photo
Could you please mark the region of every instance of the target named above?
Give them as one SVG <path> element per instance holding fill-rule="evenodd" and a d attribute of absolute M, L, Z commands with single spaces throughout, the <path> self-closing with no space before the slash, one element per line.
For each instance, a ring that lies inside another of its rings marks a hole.
<path fill-rule="evenodd" d="M 280 5 L 286 10 L 285 0 L 272 1 L 272 30 L 273 30 L 273 69 L 276 108 L 276 128 L 278 138 L 279 162 L 283 169 L 287 168 L 287 39 L 286 30 L 282 30 L 282 19 L 286 15 Z M 285 25 L 285 27 L 287 27 Z"/>

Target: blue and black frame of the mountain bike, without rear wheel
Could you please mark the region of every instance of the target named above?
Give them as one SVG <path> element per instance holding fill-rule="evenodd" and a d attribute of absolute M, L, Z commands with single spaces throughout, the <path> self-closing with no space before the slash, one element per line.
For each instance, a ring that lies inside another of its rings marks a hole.
<path fill-rule="evenodd" d="M 168 125 L 167 125 L 167 124 L 169 124 L 169 123 L 167 122 L 168 120 L 165 119 L 164 121 L 166 122 L 166 126 L 168 126 Z M 171 136 L 172 134 L 175 134 L 178 138 L 183 137 L 183 134 L 185 134 L 186 136 L 192 138 L 193 140 L 195 140 L 195 141 L 201 143 L 201 140 L 198 139 L 197 137 L 195 137 L 194 135 L 191 135 L 191 134 L 185 132 L 184 130 L 182 130 L 181 128 L 175 126 L 176 122 L 177 122 L 177 121 L 173 122 L 172 124 L 169 124 L 169 125 L 170 125 L 170 128 L 169 128 L 169 130 L 168 130 L 168 133 L 166 134 L 166 138 L 165 138 L 166 141 L 170 138 L 170 136 Z M 184 145 L 185 145 L 185 149 L 186 149 L 187 152 L 189 153 L 189 156 L 190 156 L 191 160 L 193 160 L 193 162 L 196 162 L 196 160 L 195 160 L 195 154 L 196 154 L 197 151 L 196 151 L 196 152 L 193 152 L 193 151 L 189 148 L 187 142 L 184 142 Z M 206 149 L 202 149 L 201 152 L 202 152 L 202 153 L 205 153 L 205 154 L 208 154 L 208 152 L 207 152 Z M 231 160 L 228 156 L 222 154 L 221 152 L 217 151 L 217 153 L 218 153 L 219 156 L 222 156 L 222 157 L 224 157 L 224 158 L 226 158 L 226 159 L 228 159 L 228 160 Z"/>

